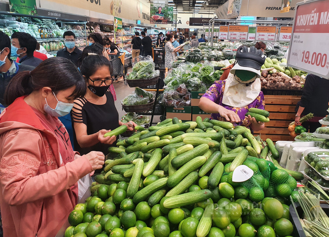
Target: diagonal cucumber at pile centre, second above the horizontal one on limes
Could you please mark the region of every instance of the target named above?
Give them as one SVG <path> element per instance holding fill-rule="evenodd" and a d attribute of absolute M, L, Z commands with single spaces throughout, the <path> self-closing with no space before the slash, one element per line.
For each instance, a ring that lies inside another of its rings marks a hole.
<path fill-rule="evenodd" d="M 181 168 L 179 168 L 172 176 L 169 176 L 167 185 L 169 187 L 176 186 L 183 178 L 185 178 L 189 173 L 199 168 L 207 159 L 204 156 L 196 157 Z M 173 160 L 174 161 L 174 160 Z"/>

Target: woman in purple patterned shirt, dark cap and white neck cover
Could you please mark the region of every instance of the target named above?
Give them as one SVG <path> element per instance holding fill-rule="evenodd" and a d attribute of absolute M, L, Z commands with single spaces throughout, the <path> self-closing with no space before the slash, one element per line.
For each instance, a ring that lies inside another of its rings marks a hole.
<path fill-rule="evenodd" d="M 236 63 L 226 80 L 215 81 L 204 93 L 199 107 L 211 113 L 212 119 L 230 121 L 234 125 L 250 127 L 254 131 L 264 128 L 250 115 L 250 108 L 265 109 L 264 94 L 261 91 L 260 69 L 265 58 L 255 47 L 241 46 L 236 53 Z"/>

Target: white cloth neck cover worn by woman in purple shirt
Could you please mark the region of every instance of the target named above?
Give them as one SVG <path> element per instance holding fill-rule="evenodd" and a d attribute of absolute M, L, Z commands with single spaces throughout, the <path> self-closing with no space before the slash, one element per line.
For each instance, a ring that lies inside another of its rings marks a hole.
<path fill-rule="evenodd" d="M 242 108 L 251 104 L 261 92 L 261 80 L 257 78 L 249 86 L 238 82 L 232 73 L 229 73 L 223 94 L 223 104 Z"/>

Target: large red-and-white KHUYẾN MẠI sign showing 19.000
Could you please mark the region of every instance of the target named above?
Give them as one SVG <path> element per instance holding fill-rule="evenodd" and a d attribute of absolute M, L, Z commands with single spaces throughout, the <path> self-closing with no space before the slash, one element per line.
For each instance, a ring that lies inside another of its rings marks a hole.
<path fill-rule="evenodd" d="M 329 0 L 296 5 L 288 65 L 329 79 Z"/>

